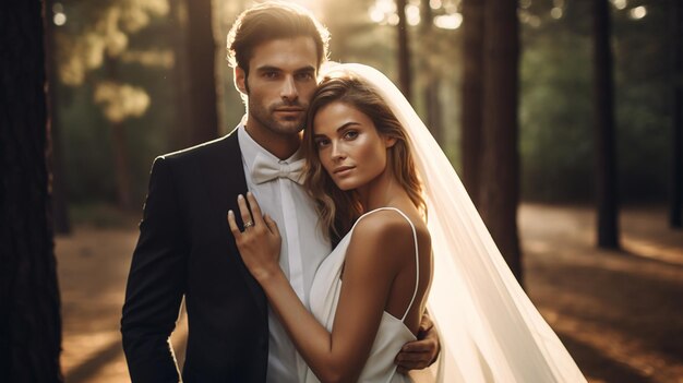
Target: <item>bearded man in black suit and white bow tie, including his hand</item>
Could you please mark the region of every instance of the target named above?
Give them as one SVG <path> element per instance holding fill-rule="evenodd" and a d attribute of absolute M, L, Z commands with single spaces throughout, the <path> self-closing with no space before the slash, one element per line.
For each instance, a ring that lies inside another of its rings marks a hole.
<path fill-rule="evenodd" d="M 185 298 L 189 335 L 184 382 L 299 382 L 305 364 L 237 252 L 226 212 L 252 191 L 283 231 L 280 265 L 304 303 L 331 246 L 300 185 L 299 132 L 327 31 L 305 10 L 263 3 L 240 15 L 228 35 L 235 84 L 247 116 L 225 137 L 158 157 L 121 320 L 133 382 L 178 382 L 169 336 Z M 249 225 L 249 223 L 244 223 Z M 397 357 L 424 368 L 438 354 L 424 321 L 422 340 Z"/>

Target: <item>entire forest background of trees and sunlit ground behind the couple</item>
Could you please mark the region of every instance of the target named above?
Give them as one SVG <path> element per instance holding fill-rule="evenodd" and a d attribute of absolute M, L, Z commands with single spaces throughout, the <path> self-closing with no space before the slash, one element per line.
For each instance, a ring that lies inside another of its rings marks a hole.
<path fill-rule="evenodd" d="M 329 28 L 332 60 L 411 100 L 590 382 L 683 382 L 683 2 L 292 2 Z M 241 119 L 225 36 L 252 4 L 0 13 L 4 376 L 127 380 L 118 322 L 151 164 Z"/>

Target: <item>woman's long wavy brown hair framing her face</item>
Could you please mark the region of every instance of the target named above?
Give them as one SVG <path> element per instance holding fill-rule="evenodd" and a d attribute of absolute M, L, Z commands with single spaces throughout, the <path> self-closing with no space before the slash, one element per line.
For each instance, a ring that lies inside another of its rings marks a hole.
<path fill-rule="evenodd" d="M 304 185 L 316 203 L 323 234 L 332 239 L 333 243 L 337 243 L 364 213 L 358 193 L 337 188 L 319 158 L 313 120 L 321 108 L 337 101 L 368 116 L 380 135 L 396 140 L 393 146 L 387 147 L 387 167 L 415 206 L 427 217 L 422 183 L 416 170 L 405 128 L 371 86 L 349 73 L 343 73 L 324 79 L 317 87 L 309 106 L 307 129 L 303 132 L 303 155 L 307 159 Z"/>

